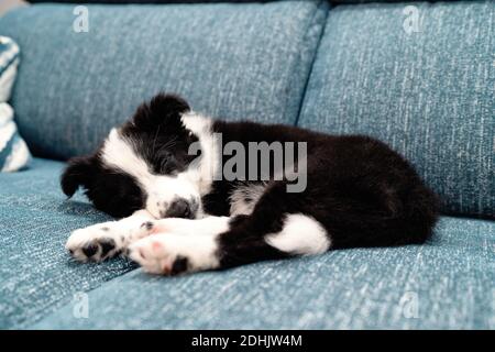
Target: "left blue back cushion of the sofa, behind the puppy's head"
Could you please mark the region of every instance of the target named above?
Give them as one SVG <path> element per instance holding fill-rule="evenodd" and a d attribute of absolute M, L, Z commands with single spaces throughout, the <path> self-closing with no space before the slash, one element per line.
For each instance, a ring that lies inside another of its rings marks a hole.
<path fill-rule="evenodd" d="M 88 33 L 73 9 L 0 20 L 23 48 L 12 102 L 35 155 L 92 151 L 160 90 L 217 117 L 294 123 L 328 4 L 89 6 Z"/>

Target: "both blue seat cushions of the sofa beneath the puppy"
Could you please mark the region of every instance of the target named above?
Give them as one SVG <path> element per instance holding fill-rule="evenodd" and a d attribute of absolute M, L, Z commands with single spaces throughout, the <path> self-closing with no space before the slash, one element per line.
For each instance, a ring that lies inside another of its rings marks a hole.
<path fill-rule="evenodd" d="M 35 160 L 0 175 L 0 328 L 495 328 L 493 221 L 443 218 L 424 246 L 118 277 L 132 266 L 65 252 L 70 230 L 108 218 L 80 197 L 64 201 L 62 166 Z M 75 319 L 74 294 L 94 288 L 88 319 Z M 404 316 L 408 297 L 418 318 Z"/>

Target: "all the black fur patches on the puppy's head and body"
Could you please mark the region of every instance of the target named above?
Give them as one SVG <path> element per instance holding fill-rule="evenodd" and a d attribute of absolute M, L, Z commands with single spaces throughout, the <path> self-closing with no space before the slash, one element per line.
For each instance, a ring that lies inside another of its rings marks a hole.
<path fill-rule="evenodd" d="M 183 99 L 160 95 L 123 125 L 123 134 L 153 172 L 178 173 L 194 158 L 187 148 L 197 138 L 180 122 L 180 114 L 188 110 Z M 267 233 L 280 231 L 290 213 L 308 215 L 320 222 L 332 249 L 420 244 L 432 232 L 437 197 L 404 157 L 377 140 L 253 122 L 216 121 L 212 132 L 221 133 L 223 143 L 306 142 L 308 148 L 306 190 L 287 193 L 287 180 L 270 180 L 253 212 L 233 217 L 230 230 L 219 237 L 221 267 L 290 256 L 264 240 Z M 229 216 L 229 197 L 246 184 L 215 182 L 211 193 L 201 199 L 204 209 Z M 98 209 L 118 217 L 142 208 L 146 197 L 132 177 L 103 166 L 99 152 L 69 162 L 62 188 L 72 196 L 79 186 Z M 182 272 L 187 265 L 187 260 L 182 260 L 175 270 Z"/>

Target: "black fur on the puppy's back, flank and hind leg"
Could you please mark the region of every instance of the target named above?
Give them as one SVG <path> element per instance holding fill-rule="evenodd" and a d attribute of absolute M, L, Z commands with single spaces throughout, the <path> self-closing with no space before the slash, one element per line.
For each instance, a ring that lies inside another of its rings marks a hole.
<path fill-rule="evenodd" d="M 308 145 L 308 180 L 304 193 L 286 191 L 272 182 L 254 211 L 240 216 L 221 235 L 222 266 L 287 256 L 263 237 L 282 230 L 289 213 L 318 220 L 332 249 L 420 244 L 437 221 L 438 201 L 415 169 L 386 144 L 362 135 L 332 136 L 286 125 L 217 122 L 223 142 L 296 141 Z M 226 138 L 227 136 L 227 138 Z M 204 199 L 207 210 L 227 216 L 226 197 L 239 183 L 216 182 Z"/>

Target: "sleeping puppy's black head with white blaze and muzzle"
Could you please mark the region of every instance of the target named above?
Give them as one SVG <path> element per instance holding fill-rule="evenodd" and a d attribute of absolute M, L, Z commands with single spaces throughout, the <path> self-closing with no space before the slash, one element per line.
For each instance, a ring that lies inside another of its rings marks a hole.
<path fill-rule="evenodd" d="M 193 162 L 198 154 L 188 151 L 198 136 L 182 119 L 189 110 L 170 95 L 143 103 L 94 155 L 69 161 L 62 189 L 72 197 L 81 186 L 97 209 L 113 217 L 146 209 L 156 218 L 195 218 L 200 190 Z"/>

